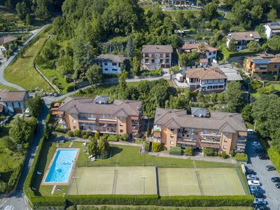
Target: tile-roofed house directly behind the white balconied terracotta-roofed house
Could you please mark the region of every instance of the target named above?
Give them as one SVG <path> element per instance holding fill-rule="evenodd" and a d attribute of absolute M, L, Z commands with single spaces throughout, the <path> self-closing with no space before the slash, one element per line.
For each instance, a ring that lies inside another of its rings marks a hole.
<path fill-rule="evenodd" d="M 185 53 L 197 50 L 197 52 L 201 52 L 203 54 L 203 58 L 207 59 L 208 62 L 213 62 L 214 59 L 217 59 L 218 49 L 206 43 L 185 43 L 182 46 L 182 50 Z"/>

